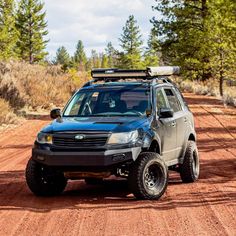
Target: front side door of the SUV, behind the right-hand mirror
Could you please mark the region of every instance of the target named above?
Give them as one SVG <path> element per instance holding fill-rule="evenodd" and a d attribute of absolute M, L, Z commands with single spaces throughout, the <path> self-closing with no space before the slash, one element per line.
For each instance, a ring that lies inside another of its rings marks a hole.
<path fill-rule="evenodd" d="M 158 116 L 160 108 L 169 107 L 163 88 L 157 88 L 156 90 L 156 106 L 158 134 L 161 139 L 161 155 L 168 162 L 176 157 L 176 123 L 174 117 L 159 118 Z"/>

